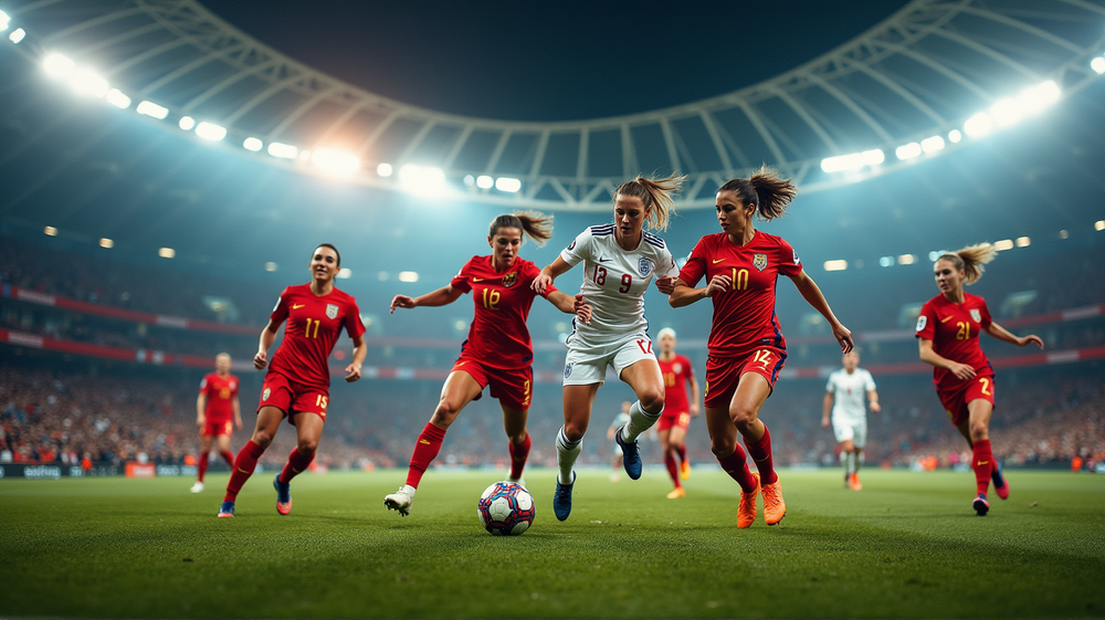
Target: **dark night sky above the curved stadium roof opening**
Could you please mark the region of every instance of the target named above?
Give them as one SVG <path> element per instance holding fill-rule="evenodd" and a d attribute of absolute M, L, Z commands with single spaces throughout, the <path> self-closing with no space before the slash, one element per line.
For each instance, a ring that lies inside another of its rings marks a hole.
<path fill-rule="evenodd" d="M 375 93 L 520 120 L 629 114 L 726 93 L 845 43 L 905 3 L 204 2 L 290 56 Z"/>

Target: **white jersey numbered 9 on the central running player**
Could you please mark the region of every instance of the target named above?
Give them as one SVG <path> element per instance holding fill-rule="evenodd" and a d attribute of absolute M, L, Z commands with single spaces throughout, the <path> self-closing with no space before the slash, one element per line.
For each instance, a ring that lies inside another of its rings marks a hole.
<path fill-rule="evenodd" d="M 646 332 L 644 292 L 652 277 L 678 275 L 663 239 L 644 231 L 641 244 L 625 251 L 618 245 L 614 228 L 589 227 L 560 252 L 571 266 L 583 262 L 580 292 L 592 308 L 590 323 L 576 322 L 569 344 L 597 346 Z"/>

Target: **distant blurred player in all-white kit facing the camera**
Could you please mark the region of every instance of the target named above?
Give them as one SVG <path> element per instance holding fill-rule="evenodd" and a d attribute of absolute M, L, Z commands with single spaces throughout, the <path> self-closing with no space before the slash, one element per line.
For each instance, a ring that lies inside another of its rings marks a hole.
<path fill-rule="evenodd" d="M 860 491 L 860 463 L 863 448 L 867 445 L 867 411 L 863 407 L 863 395 L 867 395 L 871 410 L 881 411 L 875 380 L 860 368 L 860 354 L 844 354 L 844 368 L 829 375 L 825 383 L 825 399 L 822 407 L 821 428 L 828 429 L 830 413 L 832 432 L 840 444 L 840 460 L 844 464 L 844 486 Z"/>

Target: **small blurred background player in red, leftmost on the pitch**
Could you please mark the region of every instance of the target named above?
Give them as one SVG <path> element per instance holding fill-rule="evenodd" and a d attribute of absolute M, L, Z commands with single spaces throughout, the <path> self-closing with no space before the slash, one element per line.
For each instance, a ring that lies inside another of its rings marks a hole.
<path fill-rule="evenodd" d="M 230 469 L 234 469 L 234 453 L 230 451 L 230 434 L 242 428 L 242 406 L 238 401 L 238 377 L 230 374 L 230 354 L 214 356 L 214 372 L 200 381 L 196 398 L 196 425 L 200 428 L 200 462 L 196 484 L 191 492 L 203 491 L 203 474 L 211 458 L 212 439 L 219 446 Z"/>

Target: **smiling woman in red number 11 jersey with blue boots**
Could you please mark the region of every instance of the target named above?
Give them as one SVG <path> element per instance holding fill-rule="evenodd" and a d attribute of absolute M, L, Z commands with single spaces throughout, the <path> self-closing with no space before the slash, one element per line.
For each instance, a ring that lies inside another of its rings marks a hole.
<path fill-rule="evenodd" d="M 220 517 L 234 516 L 238 492 L 253 475 L 257 460 L 272 443 L 284 418 L 295 427 L 297 443 L 284 470 L 273 480 L 273 486 L 276 487 L 276 512 L 282 515 L 292 512 L 288 483 L 315 459 L 330 399 L 330 371 L 326 359 L 343 328 L 352 338 L 354 345 L 352 362 L 346 366 L 345 380 L 351 383 L 360 379 L 360 365 L 367 350 L 360 308 L 351 295 L 334 286 L 334 277 L 341 269 L 341 254 L 334 245 L 323 243 L 312 254 L 309 266 L 311 284 L 285 288 L 269 317 L 269 325 L 261 332 L 253 366 L 257 369 L 269 366 L 269 372 L 257 406 L 257 425 L 253 438 L 234 460 L 234 472 L 230 475 L 227 496 L 219 508 Z M 285 320 L 284 340 L 273 354 L 270 365 L 266 357 L 269 347 Z"/>

